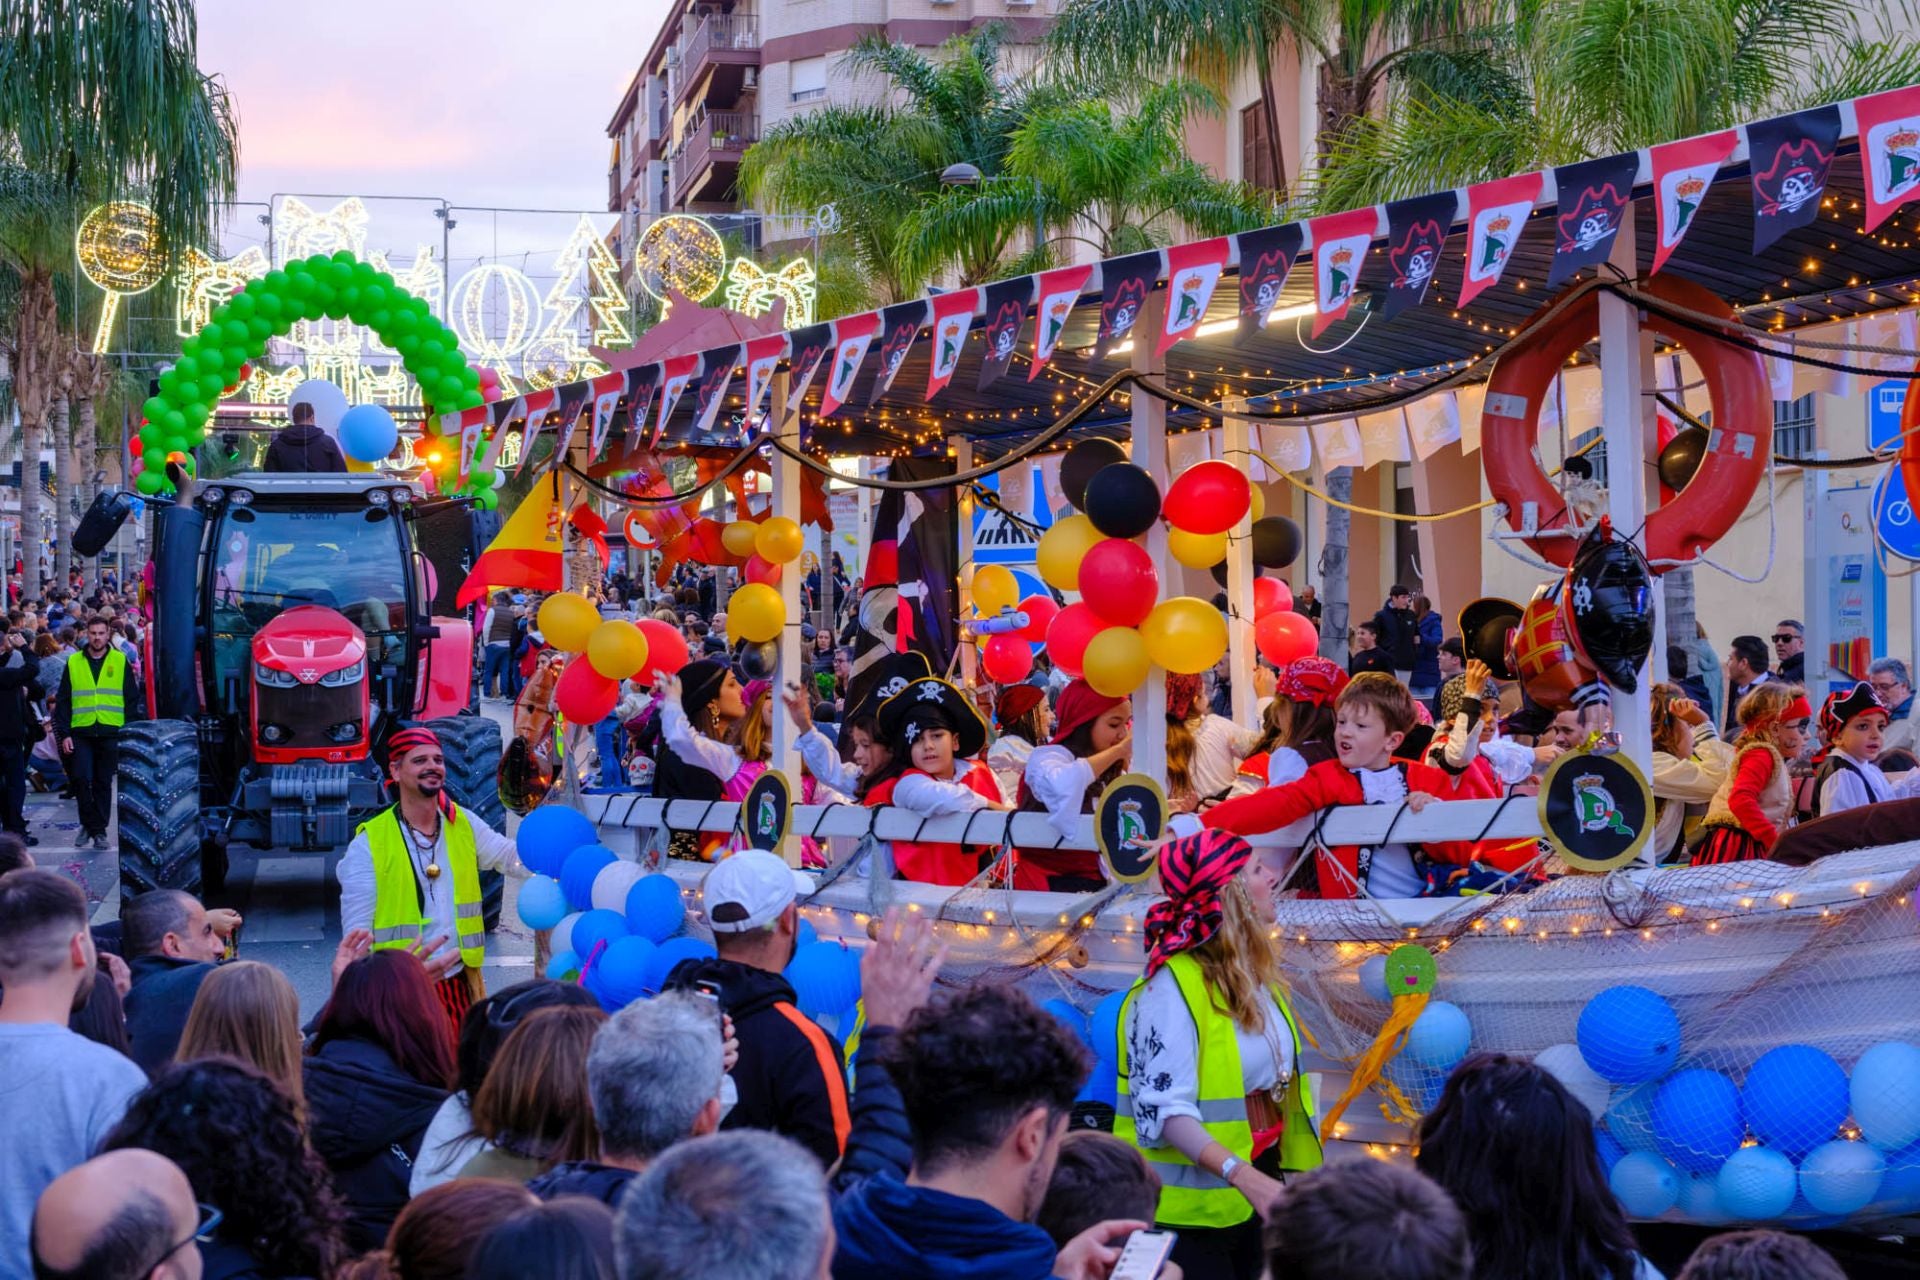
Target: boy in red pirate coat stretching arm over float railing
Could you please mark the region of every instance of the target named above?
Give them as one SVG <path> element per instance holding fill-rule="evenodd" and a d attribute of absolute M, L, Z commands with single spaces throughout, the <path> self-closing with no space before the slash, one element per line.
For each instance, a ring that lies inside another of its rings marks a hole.
<path fill-rule="evenodd" d="M 1396 760 L 1394 752 L 1417 722 L 1413 695 L 1384 672 L 1361 672 L 1334 702 L 1334 758 L 1308 768 L 1300 781 L 1223 800 L 1200 814 L 1200 825 L 1258 835 L 1300 821 L 1334 804 L 1402 804 L 1415 814 L 1432 800 L 1486 800 L 1500 783 L 1484 760 L 1461 773 L 1425 762 Z M 1177 835 L 1179 831 L 1175 831 Z M 1467 865 L 1480 854 L 1473 841 L 1428 842 L 1434 862 Z M 1321 848 L 1319 896 L 1417 898 L 1427 883 L 1405 844 L 1379 848 Z"/>

